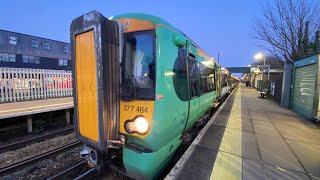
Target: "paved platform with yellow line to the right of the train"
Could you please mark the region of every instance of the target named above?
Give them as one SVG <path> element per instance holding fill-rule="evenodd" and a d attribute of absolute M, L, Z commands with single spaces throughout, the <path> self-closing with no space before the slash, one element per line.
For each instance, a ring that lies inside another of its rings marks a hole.
<path fill-rule="evenodd" d="M 239 85 L 166 179 L 320 180 L 320 129 Z"/>

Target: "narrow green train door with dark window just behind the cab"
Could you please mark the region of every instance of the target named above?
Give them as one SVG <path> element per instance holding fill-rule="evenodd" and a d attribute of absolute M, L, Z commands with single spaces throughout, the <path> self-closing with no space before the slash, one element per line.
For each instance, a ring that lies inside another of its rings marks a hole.
<path fill-rule="evenodd" d="M 191 126 L 199 117 L 199 68 L 195 56 L 189 53 L 189 77 L 190 77 L 190 109 L 187 128 Z"/>

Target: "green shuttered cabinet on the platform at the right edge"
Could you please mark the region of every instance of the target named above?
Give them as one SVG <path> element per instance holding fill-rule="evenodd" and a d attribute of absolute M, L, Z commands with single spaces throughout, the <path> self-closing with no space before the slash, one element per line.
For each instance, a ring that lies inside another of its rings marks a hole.
<path fill-rule="evenodd" d="M 294 63 L 292 109 L 306 119 L 319 116 L 319 59 L 313 55 Z"/>

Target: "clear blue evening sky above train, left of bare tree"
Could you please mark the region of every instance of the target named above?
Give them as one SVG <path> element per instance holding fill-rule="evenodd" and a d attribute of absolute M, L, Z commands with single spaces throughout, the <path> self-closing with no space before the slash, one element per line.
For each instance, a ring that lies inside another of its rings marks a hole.
<path fill-rule="evenodd" d="M 0 29 L 69 42 L 71 21 L 91 10 L 104 16 L 142 12 L 186 33 L 225 67 L 247 66 L 261 51 L 250 34 L 258 0 L 1 0 Z"/>

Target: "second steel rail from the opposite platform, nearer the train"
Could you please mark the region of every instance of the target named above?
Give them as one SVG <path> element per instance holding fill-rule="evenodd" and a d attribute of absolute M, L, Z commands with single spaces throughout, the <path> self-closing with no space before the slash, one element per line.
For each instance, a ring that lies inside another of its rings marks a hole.
<path fill-rule="evenodd" d="M 55 156 L 61 152 L 64 152 L 64 151 L 67 151 L 67 150 L 72 149 L 74 147 L 80 146 L 81 144 L 82 143 L 80 141 L 74 141 L 72 143 L 60 146 L 56 149 L 47 151 L 45 153 L 18 161 L 16 163 L 9 164 L 7 166 L 0 167 L 0 176 L 3 176 L 3 175 L 8 174 L 10 172 L 18 171 L 21 168 L 24 168 L 28 165 L 37 163 L 37 162 L 44 160 L 44 159 L 48 159 L 51 156 Z"/>

